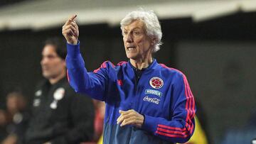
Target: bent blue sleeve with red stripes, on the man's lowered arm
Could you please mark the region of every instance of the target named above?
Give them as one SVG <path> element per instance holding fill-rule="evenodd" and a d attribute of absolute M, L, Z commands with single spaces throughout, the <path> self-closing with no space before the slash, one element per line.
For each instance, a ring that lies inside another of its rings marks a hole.
<path fill-rule="evenodd" d="M 166 119 L 144 115 L 142 129 L 173 143 L 186 143 L 195 129 L 195 101 L 185 75 L 176 75 L 174 79 L 169 101 L 172 117 Z"/>

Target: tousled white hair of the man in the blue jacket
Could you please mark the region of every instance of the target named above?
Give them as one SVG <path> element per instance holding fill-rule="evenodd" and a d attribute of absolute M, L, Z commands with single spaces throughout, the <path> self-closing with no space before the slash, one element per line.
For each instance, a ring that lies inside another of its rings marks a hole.
<path fill-rule="evenodd" d="M 154 11 L 146 11 L 144 9 L 138 9 L 137 11 L 132 11 L 125 16 L 120 22 L 121 30 L 124 30 L 124 26 L 129 25 L 134 20 L 142 21 L 146 26 L 146 35 L 150 38 L 156 38 L 156 43 L 154 45 L 153 52 L 160 50 L 161 43 L 161 26 L 159 20 Z"/>

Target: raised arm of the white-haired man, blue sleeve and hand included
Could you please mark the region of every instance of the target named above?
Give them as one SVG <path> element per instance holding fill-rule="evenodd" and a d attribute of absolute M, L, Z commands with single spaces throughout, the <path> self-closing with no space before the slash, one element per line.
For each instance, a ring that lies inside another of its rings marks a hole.
<path fill-rule="evenodd" d="M 66 66 L 68 80 L 75 92 L 87 94 L 93 99 L 104 101 L 107 69 L 103 68 L 97 73 L 87 72 L 80 53 L 79 31 L 78 25 L 75 23 L 76 16 L 70 16 L 63 26 L 63 36 L 67 40 Z"/>

